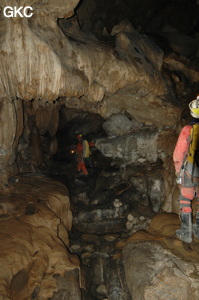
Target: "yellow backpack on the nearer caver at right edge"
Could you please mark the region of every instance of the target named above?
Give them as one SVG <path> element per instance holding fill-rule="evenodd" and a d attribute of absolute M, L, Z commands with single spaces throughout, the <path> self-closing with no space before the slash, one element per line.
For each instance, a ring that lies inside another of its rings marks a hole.
<path fill-rule="evenodd" d="M 199 123 L 192 125 L 187 161 L 199 167 Z"/>

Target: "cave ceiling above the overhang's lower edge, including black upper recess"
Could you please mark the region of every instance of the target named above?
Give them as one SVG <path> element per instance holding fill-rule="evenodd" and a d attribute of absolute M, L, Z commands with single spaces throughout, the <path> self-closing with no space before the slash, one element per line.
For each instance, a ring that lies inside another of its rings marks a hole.
<path fill-rule="evenodd" d="M 16 2 L 2 1 L 2 7 L 9 3 Z M 2 99 L 96 103 L 127 88 L 176 103 L 197 93 L 196 1 L 25 4 L 33 17 L 0 18 Z"/>

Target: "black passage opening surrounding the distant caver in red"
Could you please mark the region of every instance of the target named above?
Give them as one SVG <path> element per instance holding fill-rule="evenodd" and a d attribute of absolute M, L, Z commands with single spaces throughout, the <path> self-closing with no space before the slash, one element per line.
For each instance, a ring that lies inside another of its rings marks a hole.
<path fill-rule="evenodd" d="M 69 189 L 74 211 L 80 212 L 84 205 L 87 209 L 90 205 L 110 205 L 116 198 L 117 189 L 129 187 L 129 184 L 120 178 L 118 163 L 105 157 L 94 145 L 90 147 L 92 167 L 86 166 L 88 175 L 84 175 L 82 171 L 77 170 L 78 162 L 74 153 L 79 134 L 94 144 L 97 139 L 107 136 L 102 127 L 103 118 L 78 110 L 61 109 L 59 120 L 56 134 L 58 150 L 49 162 L 51 176 L 63 182 Z M 100 234 L 100 231 L 98 233 Z"/>

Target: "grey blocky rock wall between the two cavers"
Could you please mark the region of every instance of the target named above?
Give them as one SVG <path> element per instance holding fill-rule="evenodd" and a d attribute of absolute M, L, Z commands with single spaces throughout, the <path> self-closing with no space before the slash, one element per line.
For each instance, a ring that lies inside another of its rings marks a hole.
<path fill-rule="evenodd" d="M 144 126 L 125 114 L 113 114 L 102 126 L 108 137 L 97 139 L 96 147 L 120 165 L 121 177 L 148 195 L 153 211 L 178 212 L 172 163 L 175 131 Z"/>

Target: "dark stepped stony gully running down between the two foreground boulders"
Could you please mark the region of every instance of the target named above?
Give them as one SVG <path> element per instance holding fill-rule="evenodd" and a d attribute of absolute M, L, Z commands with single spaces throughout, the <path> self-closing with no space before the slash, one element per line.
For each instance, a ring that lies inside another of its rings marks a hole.
<path fill-rule="evenodd" d="M 124 283 L 118 278 L 118 266 L 122 264 L 118 261 L 115 265 L 114 246 L 133 232 L 146 229 L 155 213 L 146 204 L 143 206 L 142 192 L 122 180 L 118 166 L 95 151 L 88 176 L 76 170 L 70 176 L 68 163 L 64 167 L 62 162 L 62 170 L 58 169 L 65 175 L 55 177 L 65 182 L 70 192 L 73 226 L 69 250 L 81 261 L 83 299 L 122 299 L 119 295 L 127 297 L 129 291 L 127 286 L 123 289 Z"/>

